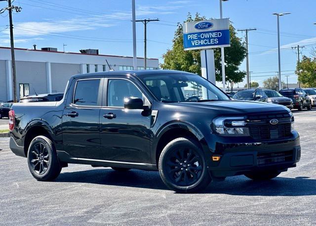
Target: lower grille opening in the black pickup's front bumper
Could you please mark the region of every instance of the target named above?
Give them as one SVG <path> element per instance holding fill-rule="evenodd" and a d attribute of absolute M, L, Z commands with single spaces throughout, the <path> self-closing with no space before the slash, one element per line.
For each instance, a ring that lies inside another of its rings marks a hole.
<path fill-rule="evenodd" d="M 272 153 L 258 153 L 257 165 L 269 165 L 277 162 L 293 160 L 293 151 L 281 151 Z"/>

